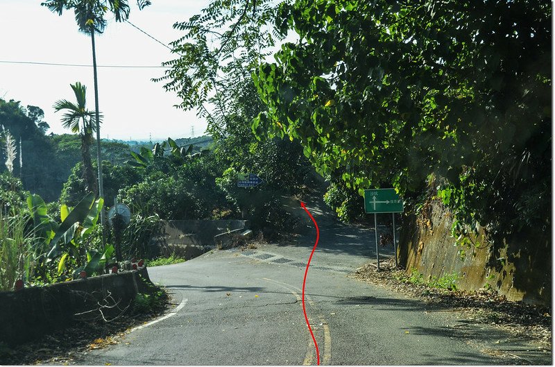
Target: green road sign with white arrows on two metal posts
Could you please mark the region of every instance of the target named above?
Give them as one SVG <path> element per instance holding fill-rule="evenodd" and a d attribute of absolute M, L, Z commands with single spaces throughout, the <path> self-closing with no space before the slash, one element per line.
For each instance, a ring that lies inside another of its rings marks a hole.
<path fill-rule="evenodd" d="M 364 212 L 374 214 L 374 231 L 376 237 L 376 260 L 379 270 L 379 250 L 377 246 L 377 213 L 391 213 L 393 215 L 393 250 L 395 251 L 395 266 L 397 266 L 397 246 L 395 244 L 395 213 L 403 212 L 403 200 L 395 189 L 366 189 L 364 190 Z"/>

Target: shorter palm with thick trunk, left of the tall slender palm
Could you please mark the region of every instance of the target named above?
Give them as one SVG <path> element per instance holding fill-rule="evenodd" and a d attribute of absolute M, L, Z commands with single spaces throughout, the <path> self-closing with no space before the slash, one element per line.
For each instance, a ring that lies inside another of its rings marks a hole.
<path fill-rule="evenodd" d="M 94 192 L 96 194 L 96 178 L 94 178 L 94 170 L 92 169 L 90 146 L 94 141 L 92 133 L 96 129 L 94 117 L 100 117 L 98 111 L 87 110 L 87 100 L 85 94 L 87 87 L 77 82 L 70 84 L 74 89 L 75 99 L 77 103 L 60 99 L 54 103 L 53 108 L 56 112 L 67 110 L 62 117 L 62 125 L 70 129 L 72 133 L 76 133 L 81 138 L 81 156 L 83 157 L 83 178 L 85 179 L 85 191 Z"/>

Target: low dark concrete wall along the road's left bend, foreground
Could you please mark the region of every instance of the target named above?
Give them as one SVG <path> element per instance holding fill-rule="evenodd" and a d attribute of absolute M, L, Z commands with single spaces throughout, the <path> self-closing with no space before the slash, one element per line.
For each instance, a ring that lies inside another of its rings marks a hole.
<path fill-rule="evenodd" d="M 0 292 L 0 341 L 17 345 L 76 321 L 109 320 L 150 283 L 146 268 L 45 287 Z"/>

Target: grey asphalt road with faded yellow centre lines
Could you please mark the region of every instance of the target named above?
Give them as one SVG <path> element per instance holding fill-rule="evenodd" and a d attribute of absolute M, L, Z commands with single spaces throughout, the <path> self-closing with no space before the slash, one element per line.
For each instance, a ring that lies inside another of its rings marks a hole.
<path fill-rule="evenodd" d="M 311 207 L 321 242 L 307 280 L 307 313 L 321 364 L 503 364 L 481 352 L 499 335 L 461 328 L 461 316 L 348 277 L 375 255 L 373 232 L 341 225 Z M 302 212 L 296 215 L 302 216 Z M 207 253 L 149 268 L 176 308 L 130 332 L 122 343 L 94 350 L 79 364 L 309 365 L 316 352 L 300 294 L 315 230 L 291 246 Z M 391 255 L 391 249 L 388 250 Z M 460 325 L 459 325 L 460 326 Z"/>

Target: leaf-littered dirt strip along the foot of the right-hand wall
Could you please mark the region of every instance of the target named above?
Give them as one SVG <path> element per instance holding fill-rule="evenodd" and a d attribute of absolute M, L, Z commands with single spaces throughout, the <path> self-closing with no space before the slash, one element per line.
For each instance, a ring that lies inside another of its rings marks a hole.
<path fill-rule="evenodd" d="M 373 263 L 361 266 L 352 277 L 419 298 L 432 307 L 461 311 L 473 323 L 499 327 L 540 348 L 552 349 L 552 311 L 548 307 L 507 300 L 493 291 L 452 291 L 416 285 L 407 281 L 404 270 L 395 268 L 393 259 L 380 262 L 380 271 Z"/>

